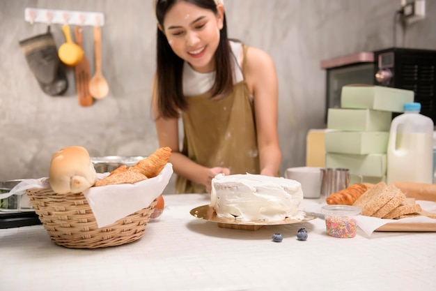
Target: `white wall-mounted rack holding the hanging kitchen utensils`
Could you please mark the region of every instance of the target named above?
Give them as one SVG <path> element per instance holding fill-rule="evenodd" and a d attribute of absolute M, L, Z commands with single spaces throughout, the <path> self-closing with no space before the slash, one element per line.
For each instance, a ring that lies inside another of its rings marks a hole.
<path fill-rule="evenodd" d="M 102 27 L 104 25 L 104 14 L 99 12 L 25 8 L 24 20 L 31 24 L 41 22 L 45 24 Z"/>

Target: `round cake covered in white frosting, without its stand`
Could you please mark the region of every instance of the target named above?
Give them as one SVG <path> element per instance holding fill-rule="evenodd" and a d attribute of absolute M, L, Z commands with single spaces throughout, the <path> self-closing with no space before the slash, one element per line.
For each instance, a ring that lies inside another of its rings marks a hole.
<path fill-rule="evenodd" d="M 218 217 L 241 221 L 283 221 L 302 218 L 299 182 L 258 174 L 218 174 L 212 179 L 210 207 Z"/>

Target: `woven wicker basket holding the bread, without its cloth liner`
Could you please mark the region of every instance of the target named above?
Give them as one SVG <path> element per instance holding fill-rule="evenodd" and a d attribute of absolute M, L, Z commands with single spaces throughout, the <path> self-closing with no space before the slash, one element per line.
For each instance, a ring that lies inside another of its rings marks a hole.
<path fill-rule="evenodd" d="M 54 243 L 67 248 L 104 248 L 140 239 L 157 200 L 111 225 L 98 228 L 82 193 L 57 194 L 52 189 L 29 189 L 33 208 Z"/>

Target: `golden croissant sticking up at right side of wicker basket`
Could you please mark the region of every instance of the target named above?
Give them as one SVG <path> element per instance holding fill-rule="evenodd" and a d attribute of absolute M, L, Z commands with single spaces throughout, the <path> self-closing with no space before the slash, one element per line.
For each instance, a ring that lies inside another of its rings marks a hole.
<path fill-rule="evenodd" d="M 148 178 L 156 177 L 160 171 L 168 163 L 168 159 L 171 156 L 170 147 L 161 147 L 157 149 L 153 154 L 150 154 L 147 158 L 136 163 L 130 167 L 130 171 L 137 172 L 145 175 Z"/>

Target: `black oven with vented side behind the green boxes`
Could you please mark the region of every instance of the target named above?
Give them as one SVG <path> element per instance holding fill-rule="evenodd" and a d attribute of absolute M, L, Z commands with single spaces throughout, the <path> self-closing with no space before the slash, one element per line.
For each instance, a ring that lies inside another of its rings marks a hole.
<path fill-rule="evenodd" d="M 393 47 L 360 52 L 321 62 L 327 71 L 327 109 L 341 106 L 341 89 L 347 84 L 375 84 L 414 91 L 421 113 L 436 124 L 436 50 Z"/>

